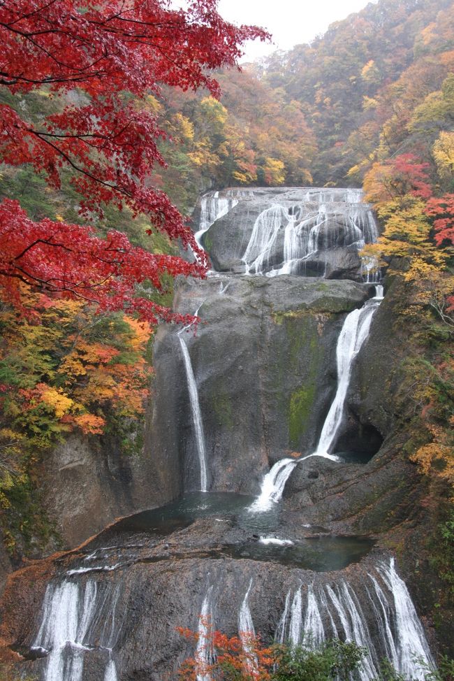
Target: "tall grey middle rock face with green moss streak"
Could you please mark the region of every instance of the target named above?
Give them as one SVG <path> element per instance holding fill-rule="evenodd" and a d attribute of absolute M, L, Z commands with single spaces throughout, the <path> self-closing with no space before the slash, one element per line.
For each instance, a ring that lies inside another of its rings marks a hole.
<path fill-rule="evenodd" d="M 289 275 L 213 277 L 178 289 L 176 309 L 198 309 L 200 317 L 196 334 L 189 329 L 182 338 L 197 377 L 208 489 L 256 494 L 275 460 L 314 448 L 335 392 L 337 336 L 346 314 L 367 296 L 367 287 L 355 282 Z M 159 331 L 154 365 L 159 400 L 149 447 L 168 501 L 200 484 L 180 336 L 173 329 Z"/>

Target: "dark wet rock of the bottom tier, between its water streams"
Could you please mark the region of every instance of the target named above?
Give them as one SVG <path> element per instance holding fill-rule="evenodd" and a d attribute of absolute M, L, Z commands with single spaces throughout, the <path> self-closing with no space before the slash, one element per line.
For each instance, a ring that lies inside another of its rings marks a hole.
<path fill-rule="evenodd" d="M 202 503 L 200 499 L 198 503 Z M 221 510 L 220 506 L 216 510 Z M 345 625 L 337 613 L 340 605 L 336 605 L 337 601 L 328 603 L 326 598 L 331 590 L 340 603 L 346 591 L 353 601 L 345 605 L 347 599 L 342 607 L 353 608 L 354 616 L 362 619 L 367 640 L 374 640 L 373 654 L 378 659 L 384 651 L 379 621 L 373 608 L 361 610 L 360 603 L 366 602 L 367 587 L 373 587 L 372 578 L 379 580 L 385 591 L 386 583 L 377 566 L 389 564 L 386 551 L 372 549 L 372 543 L 360 538 L 335 538 L 323 533 L 321 528 L 302 527 L 296 516 L 292 522 L 291 512 L 283 510 L 285 517 L 279 520 L 280 532 L 274 536 L 281 534 L 285 526 L 286 537 L 293 537 L 293 547 L 298 544 L 302 547 L 302 563 L 289 563 L 288 546 L 270 548 L 261 544 L 251 535 L 251 526 L 245 527 L 241 519 L 238 521 L 241 514 L 232 515 L 232 508 L 228 511 L 196 519 L 189 526 L 166 535 L 162 528 L 161 533 L 156 533 L 155 528 L 130 531 L 123 522 L 78 550 L 22 571 L 22 575 L 8 585 L 1 629 L 3 643 L 22 654 L 20 670 L 38 677 L 46 674 L 55 652 L 46 649 L 45 636 L 40 639 L 42 610 L 40 612 L 39 605 L 44 601 L 48 614 L 57 617 L 64 594 L 68 604 L 73 598 L 73 616 L 79 622 L 77 630 L 82 631 L 84 626 L 86 630 L 80 676 L 83 681 L 104 678 L 112 659 L 109 650 L 114 651 L 118 678 L 134 681 L 175 678 L 182 661 L 194 654 L 193 641 L 184 638 L 177 628 L 197 631 L 198 615 L 207 593 L 213 626 L 233 636 L 237 635 L 239 612 L 249 591 L 248 608 L 255 630 L 268 641 L 279 636 L 286 601 L 295 598 L 298 592 L 303 619 L 304 612 L 309 610 L 309 600 L 316 598 L 321 626 L 327 633 L 332 627 L 332 634 L 337 630 L 341 633 Z M 344 566 L 333 564 L 337 568 L 334 571 L 328 563 L 316 571 L 305 568 L 305 561 L 313 560 L 314 554 L 324 561 L 329 554 L 338 560 L 342 544 Z M 233 559 L 231 546 L 236 546 L 244 555 Z M 268 559 L 261 559 L 257 552 L 254 559 L 249 558 L 247 550 L 251 551 L 254 546 L 256 550 L 261 547 L 263 552 L 268 551 Z M 44 596 L 52 573 L 52 582 Z M 88 598 L 94 603 L 91 610 Z M 80 610 L 78 603 L 82 602 L 85 605 Z M 30 607 L 34 617 L 25 615 Z M 70 615 L 71 605 L 65 607 Z M 83 622 L 82 617 L 85 617 Z M 289 626 L 290 615 L 287 615 L 284 633 Z M 70 649 L 61 651 L 62 659 L 70 659 L 68 655 L 74 654 Z"/>

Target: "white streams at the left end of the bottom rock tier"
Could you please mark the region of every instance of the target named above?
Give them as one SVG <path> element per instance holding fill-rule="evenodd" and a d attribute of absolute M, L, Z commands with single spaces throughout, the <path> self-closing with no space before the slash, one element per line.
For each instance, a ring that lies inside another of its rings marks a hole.
<path fill-rule="evenodd" d="M 95 647 L 95 642 L 109 653 L 104 681 L 117 681 L 112 648 L 103 644 L 113 645 L 118 596 L 108 603 L 107 613 L 108 594 L 101 594 L 101 603 L 98 596 L 95 582 L 87 582 L 85 589 L 68 581 L 47 585 L 41 626 L 32 645 L 32 650 L 48 653 L 45 681 L 82 681 L 84 654 Z M 112 626 L 106 633 L 109 615 Z M 103 631 L 101 636 L 95 636 L 94 629 L 99 620 L 103 622 Z"/>

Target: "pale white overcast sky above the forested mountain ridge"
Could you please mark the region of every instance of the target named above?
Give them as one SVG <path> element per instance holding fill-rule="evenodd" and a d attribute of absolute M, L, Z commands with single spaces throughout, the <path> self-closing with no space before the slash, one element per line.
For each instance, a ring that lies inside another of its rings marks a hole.
<path fill-rule="evenodd" d="M 369 0 L 219 0 L 219 13 L 235 24 L 256 24 L 272 33 L 274 45 L 249 41 L 243 60 L 308 43 L 335 21 L 358 12 Z M 374 0 L 376 1 L 376 0 Z"/>

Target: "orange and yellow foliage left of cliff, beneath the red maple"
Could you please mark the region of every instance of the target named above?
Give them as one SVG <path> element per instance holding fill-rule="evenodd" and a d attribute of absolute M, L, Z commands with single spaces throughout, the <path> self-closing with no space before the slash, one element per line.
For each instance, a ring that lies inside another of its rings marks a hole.
<path fill-rule="evenodd" d="M 1 401 L 16 428 L 49 440 L 73 429 L 98 435 L 107 414 L 112 420 L 144 412 L 152 373 L 148 324 L 94 317 L 79 301 L 34 295 L 29 304 L 41 313 L 39 324 L 0 315 Z"/>

